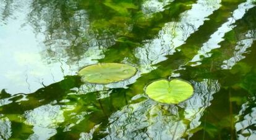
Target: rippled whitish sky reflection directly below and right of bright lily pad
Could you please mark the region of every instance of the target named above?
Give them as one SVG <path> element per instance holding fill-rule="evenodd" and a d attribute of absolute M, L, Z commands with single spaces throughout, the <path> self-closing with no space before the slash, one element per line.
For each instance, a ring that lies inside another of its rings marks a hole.
<path fill-rule="evenodd" d="M 179 139 L 184 134 L 192 136 L 190 131 L 201 125 L 203 112 L 211 105 L 213 94 L 220 90 L 215 80 L 192 83 L 194 95 L 181 104 L 158 104 L 147 99 L 113 113 L 109 117 L 106 139 Z M 184 118 L 179 114 L 181 110 L 184 110 Z"/>

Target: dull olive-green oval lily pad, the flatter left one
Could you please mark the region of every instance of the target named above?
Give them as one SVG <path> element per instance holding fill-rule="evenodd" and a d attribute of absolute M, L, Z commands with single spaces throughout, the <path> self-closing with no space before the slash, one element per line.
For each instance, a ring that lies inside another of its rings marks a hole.
<path fill-rule="evenodd" d="M 79 71 L 82 81 L 96 84 L 109 84 L 126 80 L 135 75 L 135 67 L 127 64 L 105 63 L 89 65 Z"/>

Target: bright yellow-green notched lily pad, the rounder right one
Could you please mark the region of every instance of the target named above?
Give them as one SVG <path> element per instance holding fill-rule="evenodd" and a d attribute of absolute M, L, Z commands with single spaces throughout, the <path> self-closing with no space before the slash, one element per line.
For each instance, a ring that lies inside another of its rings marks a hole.
<path fill-rule="evenodd" d="M 185 101 L 193 92 L 194 89 L 189 82 L 179 79 L 154 81 L 146 88 L 146 94 L 151 99 L 167 104 Z"/>

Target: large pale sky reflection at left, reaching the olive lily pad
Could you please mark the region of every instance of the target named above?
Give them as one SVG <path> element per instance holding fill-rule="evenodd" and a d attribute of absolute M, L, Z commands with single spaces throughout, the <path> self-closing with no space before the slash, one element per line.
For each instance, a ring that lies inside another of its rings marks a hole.
<path fill-rule="evenodd" d="M 9 9 L 10 18 L 0 21 L 0 89 L 11 94 L 32 93 L 62 80 L 64 75 L 75 75 L 81 66 L 95 64 L 93 59 L 102 58 L 99 47 L 93 44 L 78 65 L 67 65 L 66 59 L 47 64 L 44 59 L 49 58 L 42 54 L 46 48 L 45 35 L 35 33 L 27 24 L 30 2 L 14 1 Z M 0 15 L 4 15 L 4 6 L 5 2 L 0 2 Z"/>

